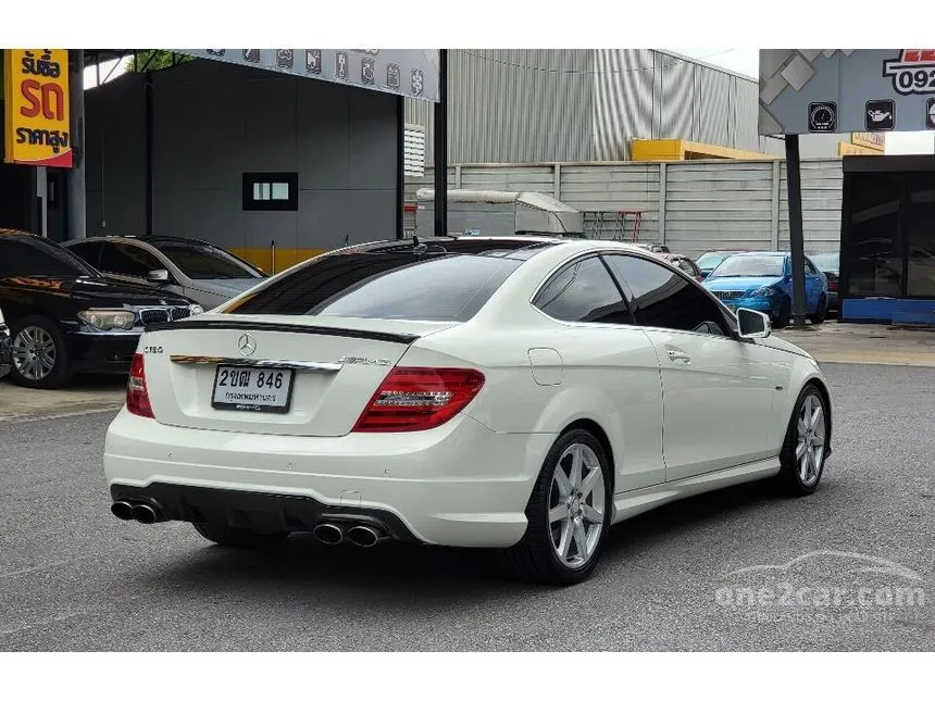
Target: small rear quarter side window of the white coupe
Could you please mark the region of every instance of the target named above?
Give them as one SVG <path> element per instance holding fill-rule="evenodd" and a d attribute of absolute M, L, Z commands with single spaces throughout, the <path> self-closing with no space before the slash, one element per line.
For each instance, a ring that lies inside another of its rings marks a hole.
<path fill-rule="evenodd" d="M 633 324 L 626 302 L 597 256 L 572 263 L 557 273 L 533 303 L 562 322 Z"/>

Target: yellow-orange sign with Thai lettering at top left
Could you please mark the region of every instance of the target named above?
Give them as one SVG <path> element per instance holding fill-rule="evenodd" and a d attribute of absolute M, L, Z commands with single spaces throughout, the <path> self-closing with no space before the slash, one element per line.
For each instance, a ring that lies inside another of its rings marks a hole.
<path fill-rule="evenodd" d="M 68 51 L 7 49 L 7 163 L 72 167 Z"/>

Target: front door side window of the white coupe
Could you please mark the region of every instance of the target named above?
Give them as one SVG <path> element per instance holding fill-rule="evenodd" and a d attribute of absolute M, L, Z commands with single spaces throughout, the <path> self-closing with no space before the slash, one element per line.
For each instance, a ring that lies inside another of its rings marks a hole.
<path fill-rule="evenodd" d="M 728 335 L 721 308 L 694 283 L 646 259 L 632 255 L 604 259 L 633 296 L 633 313 L 640 326 Z"/>

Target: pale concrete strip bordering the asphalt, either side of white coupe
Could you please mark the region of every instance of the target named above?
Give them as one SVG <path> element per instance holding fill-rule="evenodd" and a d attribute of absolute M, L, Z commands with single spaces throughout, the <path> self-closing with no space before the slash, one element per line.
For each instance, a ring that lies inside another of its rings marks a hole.
<path fill-rule="evenodd" d="M 935 367 L 935 330 L 828 321 L 806 330 L 787 328 L 775 334 L 820 362 Z M 9 379 L 0 380 L 0 422 L 117 409 L 125 392 L 123 376 L 79 377 L 71 387 L 53 391 L 24 389 Z"/>

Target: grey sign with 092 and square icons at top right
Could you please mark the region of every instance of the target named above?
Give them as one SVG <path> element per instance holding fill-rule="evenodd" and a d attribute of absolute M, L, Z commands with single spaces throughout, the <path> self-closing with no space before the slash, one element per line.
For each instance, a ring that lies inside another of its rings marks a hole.
<path fill-rule="evenodd" d="M 935 129 L 935 49 L 761 49 L 759 133 Z"/>

